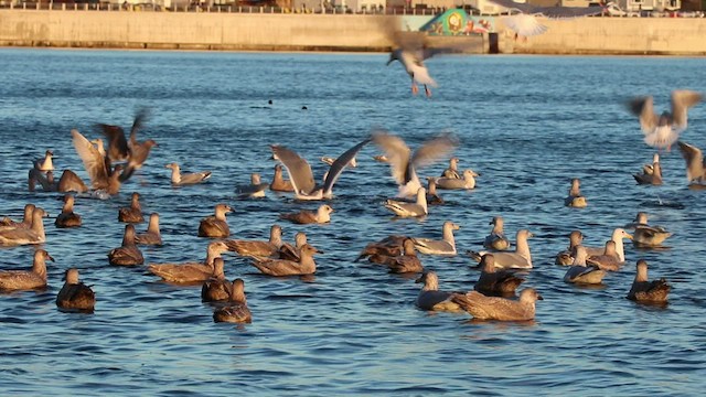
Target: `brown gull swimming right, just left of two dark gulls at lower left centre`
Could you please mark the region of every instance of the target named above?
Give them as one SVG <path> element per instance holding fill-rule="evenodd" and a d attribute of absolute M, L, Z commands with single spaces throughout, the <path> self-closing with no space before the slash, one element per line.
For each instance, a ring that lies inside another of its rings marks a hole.
<path fill-rule="evenodd" d="M 150 264 L 147 270 L 169 282 L 202 282 L 213 275 L 215 259 L 227 250 L 225 243 L 213 242 L 208 244 L 206 258 L 201 262 Z"/>

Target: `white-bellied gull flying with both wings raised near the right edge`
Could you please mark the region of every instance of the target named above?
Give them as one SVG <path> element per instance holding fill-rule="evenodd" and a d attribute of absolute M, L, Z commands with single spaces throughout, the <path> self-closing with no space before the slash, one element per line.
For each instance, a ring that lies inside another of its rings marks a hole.
<path fill-rule="evenodd" d="M 687 110 L 703 99 L 700 93 L 687 89 L 672 92 L 672 109 L 662 115 L 654 112 L 651 96 L 637 97 L 628 103 L 628 109 L 640 119 L 644 142 L 651 147 L 670 150 L 687 126 Z"/>

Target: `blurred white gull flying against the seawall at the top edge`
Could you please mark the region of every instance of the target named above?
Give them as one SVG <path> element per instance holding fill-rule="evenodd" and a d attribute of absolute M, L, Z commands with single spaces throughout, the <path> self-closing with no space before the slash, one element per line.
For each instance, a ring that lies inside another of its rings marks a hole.
<path fill-rule="evenodd" d="M 505 26 L 515 32 L 515 40 L 518 37 L 526 40 L 528 36 L 546 32 L 548 28 L 537 20 L 537 17 L 541 15 L 550 19 L 571 19 L 597 15 L 603 12 L 602 7 L 537 7 L 513 0 L 491 0 L 491 2 L 507 8 L 511 12 L 518 12 L 502 18 Z"/>

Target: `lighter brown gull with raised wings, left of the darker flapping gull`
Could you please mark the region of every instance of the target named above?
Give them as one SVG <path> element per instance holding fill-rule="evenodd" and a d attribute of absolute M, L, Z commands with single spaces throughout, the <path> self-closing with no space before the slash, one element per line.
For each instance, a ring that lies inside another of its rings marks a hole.
<path fill-rule="evenodd" d="M 109 158 L 101 154 L 78 130 L 73 129 L 71 133 L 74 148 L 90 179 L 90 186 L 94 190 L 104 190 L 109 195 L 117 194 L 120 190 L 121 181 L 119 178 L 121 176 L 122 167 L 116 165 L 115 169 L 111 168 Z"/>

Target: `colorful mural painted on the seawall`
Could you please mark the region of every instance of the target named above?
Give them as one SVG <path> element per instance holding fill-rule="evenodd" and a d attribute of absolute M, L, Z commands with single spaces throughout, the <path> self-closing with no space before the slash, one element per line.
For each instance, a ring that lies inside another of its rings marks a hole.
<path fill-rule="evenodd" d="M 494 32 L 493 17 L 469 15 L 463 9 L 450 9 L 434 17 L 419 31 L 430 35 L 468 35 Z"/>

